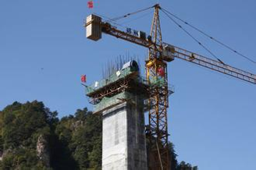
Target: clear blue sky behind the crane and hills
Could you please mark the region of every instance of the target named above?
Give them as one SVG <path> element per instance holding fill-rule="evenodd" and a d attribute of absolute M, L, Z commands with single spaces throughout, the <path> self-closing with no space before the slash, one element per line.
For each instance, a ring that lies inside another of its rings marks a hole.
<path fill-rule="evenodd" d="M 85 37 L 83 22 L 96 12 L 111 18 L 154 5 L 171 12 L 256 60 L 254 0 L 2 0 L 0 2 L 0 110 L 13 101 L 44 101 L 59 116 L 92 108 L 80 85 L 101 79 L 105 62 L 118 55 L 136 55 L 142 67 L 148 51 L 103 35 Z M 120 21 L 149 33 L 153 11 Z M 161 13 L 163 41 L 210 56 Z M 135 19 L 135 20 L 134 20 Z M 256 73 L 255 65 L 191 31 L 231 66 Z M 169 63 L 169 133 L 179 161 L 207 170 L 254 169 L 256 162 L 255 85 L 214 73 L 178 59 Z M 146 115 L 147 116 L 147 115 Z"/>

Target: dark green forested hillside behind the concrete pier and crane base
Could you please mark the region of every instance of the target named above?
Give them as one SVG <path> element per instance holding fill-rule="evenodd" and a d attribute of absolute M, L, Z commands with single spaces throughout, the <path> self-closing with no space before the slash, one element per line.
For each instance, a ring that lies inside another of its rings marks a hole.
<path fill-rule="evenodd" d="M 10 104 L 0 112 L 0 169 L 101 169 L 101 117 L 84 108 L 59 120 L 39 101 Z"/>

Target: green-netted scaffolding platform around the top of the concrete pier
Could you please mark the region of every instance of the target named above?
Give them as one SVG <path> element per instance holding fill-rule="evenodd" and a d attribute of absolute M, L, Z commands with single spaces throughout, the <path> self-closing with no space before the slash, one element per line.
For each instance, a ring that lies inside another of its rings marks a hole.
<path fill-rule="evenodd" d="M 86 86 L 86 94 L 89 102 L 94 104 L 94 114 L 104 112 L 123 102 L 131 103 L 134 100 L 134 94 L 144 98 L 144 104 L 139 107 L 143 107 L 144 112 L 147 112 L 151 107 L 148 106 L 151 90 L 154 87 L 162 87 L 164 84 L 163 78 L 148 81 L 140 76 L 137 69 L 127 67 L 113 73 L 107 79 L 95 81 L 90 86 Z M 169 87 L 168 93 L 172 94 L 174 87 Z"/>

